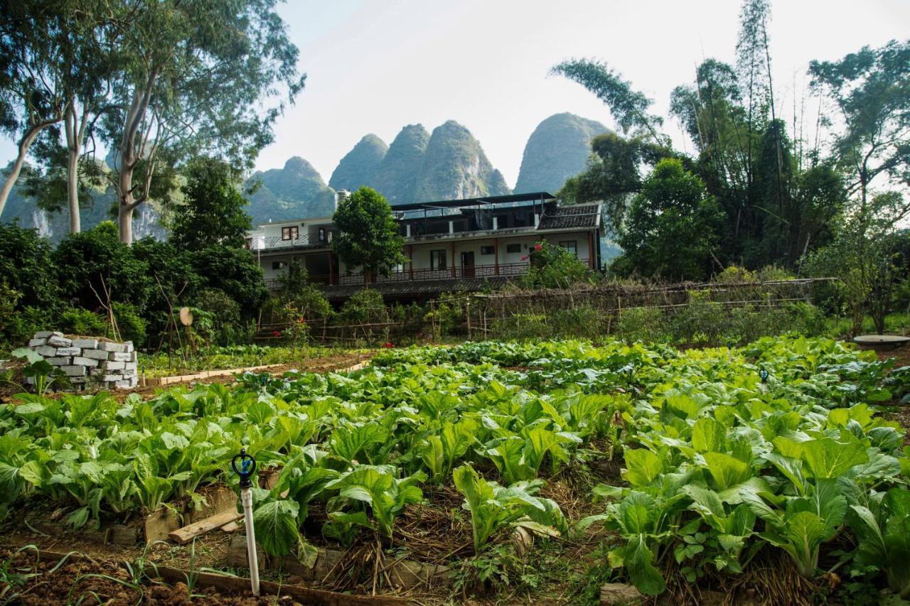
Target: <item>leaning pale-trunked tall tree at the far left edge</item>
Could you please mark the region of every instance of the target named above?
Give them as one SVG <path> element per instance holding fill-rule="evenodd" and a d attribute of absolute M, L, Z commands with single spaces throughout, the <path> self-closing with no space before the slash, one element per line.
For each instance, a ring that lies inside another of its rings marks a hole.
<path fill-rule="evenodd" d="M 58 17 L 65 10 L 62 3 L 0 2 L 0 130 L 18 141 L 0 187 L 0 213 L 35 139 L 64 119 L 66 37 Z"/>

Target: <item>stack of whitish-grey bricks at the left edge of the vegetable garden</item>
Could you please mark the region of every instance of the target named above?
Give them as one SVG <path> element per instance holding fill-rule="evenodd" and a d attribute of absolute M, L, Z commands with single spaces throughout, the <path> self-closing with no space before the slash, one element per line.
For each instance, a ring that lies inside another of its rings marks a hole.
<path fill-rule="evenodd" d="M 138 382 L 132 341 L 112 343 L 42 331 L 35 333 L 28 347 L 66 374 L 76 389 L 130 389 Z"/>

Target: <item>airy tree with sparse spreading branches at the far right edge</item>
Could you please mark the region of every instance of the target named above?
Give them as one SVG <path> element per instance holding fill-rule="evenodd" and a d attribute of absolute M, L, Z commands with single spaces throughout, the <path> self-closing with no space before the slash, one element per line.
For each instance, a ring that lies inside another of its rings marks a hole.
<path fill-rule="evenodd" d="M 834 134 L 832 151 L 867 217 L 876 177 L 910 185 L 910 41 L 864 46 L 840 61 L 812 61 L 809 75 L 814 91 L 840 113 L 843 131 Z M 895 221 L 908 212 L 905 204 Z"/>

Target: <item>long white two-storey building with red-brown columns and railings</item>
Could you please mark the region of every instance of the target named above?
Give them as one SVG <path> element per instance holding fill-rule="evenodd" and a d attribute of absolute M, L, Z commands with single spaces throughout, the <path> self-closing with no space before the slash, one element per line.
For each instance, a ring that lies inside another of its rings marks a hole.
<path fill-rule="evenodd" d="M 601 267 L 600 203 L 559 207 L 551 194 L 537 192 L 392 210 L 409 260 L 387 277 L 369 278 L 340 262 L 332 252 L 331 217 L 260 225 L 249 234 L 248 246 L 270 286 L 277 286 L 288 263 L 298 262 L 335 300 L 368 285 L 392 299 L 501 285 L 528 272 L 530 251 L 541 240 L 566 248 L 592 269 Z"/>

